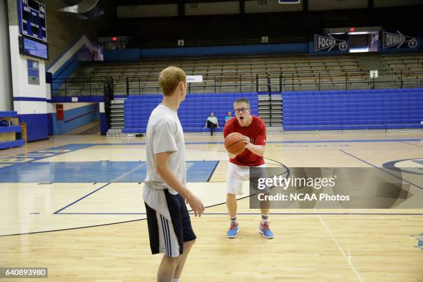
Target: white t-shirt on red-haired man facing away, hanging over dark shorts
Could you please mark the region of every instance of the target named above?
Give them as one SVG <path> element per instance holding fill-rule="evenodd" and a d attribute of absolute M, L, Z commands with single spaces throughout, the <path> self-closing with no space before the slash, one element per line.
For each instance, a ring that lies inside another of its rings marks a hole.
<path fill-rule="evenodd" d="M 151 112 L 146 132 L 147 177 L 144 180 L 144 201 L 170 220 L 163 189 L 178 194 L 156 173 L 154 155 L 171 152 L 169 167 L 183 185 L 187 184 L 185 169 L 185 140 L 178 113 L 162 104 Z"/>

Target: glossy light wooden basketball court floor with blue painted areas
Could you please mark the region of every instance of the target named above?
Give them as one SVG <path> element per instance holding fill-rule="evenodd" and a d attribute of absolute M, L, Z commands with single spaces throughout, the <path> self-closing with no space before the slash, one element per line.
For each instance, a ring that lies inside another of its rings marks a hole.
<path fill-rule="evenodd" d="M 274 209 L 266 240 L 259 209 L 240 196 L 240 233 L 226 238 L 223 137 L 185 141 L 188 186 L 207 209 L 191 217 L 198 240 L 181 281 L 423 281 L 423 209 Z M 0 267 L 48 267 L 48 281 L 155 281 L 162 255 L 149 250 L 143 142 L 66 135 L 0 151 Z M 423 132 L 267 135 L 265 157 L 420 169 Z M 422 199 L 422 174 L 404 180 Z"/>

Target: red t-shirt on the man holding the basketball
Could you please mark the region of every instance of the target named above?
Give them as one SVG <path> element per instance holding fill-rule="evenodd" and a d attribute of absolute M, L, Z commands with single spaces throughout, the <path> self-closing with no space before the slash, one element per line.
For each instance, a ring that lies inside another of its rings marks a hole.
<path fill-rule="evenodd" d="M 225 124 L 225 128 L 223 129 L 223 136 L 226 138 L 229 133 L 238 132 L 250 137 L 252 144 L 265 146 L 266 125 L 261 118 L 256 117 L 255 115 L 252 115 L 251 117 L 253 120 L 247 127 L 239 125 L 236 118 L 228 120 Z M 257 167 L 265 163 L 263 157 L 257 156 L 248 149 L 245 149 L 243 153 L 240 153 L 235 158 L 229 158 L 229 162 L 232 162 L 233 164 L 247 165 L 249 167 Z"/>

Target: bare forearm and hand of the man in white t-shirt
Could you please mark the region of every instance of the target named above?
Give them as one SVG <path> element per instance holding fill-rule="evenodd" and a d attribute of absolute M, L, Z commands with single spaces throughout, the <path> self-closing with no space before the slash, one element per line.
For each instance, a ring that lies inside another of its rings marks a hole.
<path fill-rule="evenodd" d="M 194 211 L 194 214 L 201 216 L 204 212 L 204 205 L 201 200 L 195 196 L 187 187 L 185 187 L 176 177 L 175 173 L 169 167 L 169 157 L 171 152 L 156 153 L 154 155 L 154 162 L 156 163 L 156 173 L 166 182 L 171 189 L 177 191 L 182 197 L 187 200 L 187 203 Z"/>

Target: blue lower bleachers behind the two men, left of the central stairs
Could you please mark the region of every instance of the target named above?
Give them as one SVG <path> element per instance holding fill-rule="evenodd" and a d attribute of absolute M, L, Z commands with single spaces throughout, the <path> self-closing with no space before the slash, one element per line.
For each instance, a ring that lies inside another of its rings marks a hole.
<path fill-rule="evenodd" d="M 234 113 L 234 100 L 245 97 L 250 100 L 253 115 L 257 115 L 257 93 L 218 93 L 187 95 L 178 110 L 180 123 L 185 132 L 209 132 L 205 121 L 210 112 L 218 118 L 220 125 L 216 131 L 222 131 L 225 115 Z M 145 132 L 151 111 L 162 100 L 162 95 L 131 95 L 124 102 L 125 128 L 123 133 Z"/>

